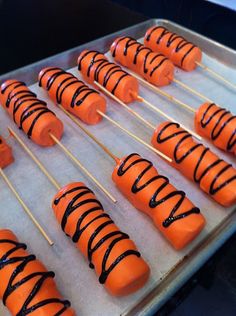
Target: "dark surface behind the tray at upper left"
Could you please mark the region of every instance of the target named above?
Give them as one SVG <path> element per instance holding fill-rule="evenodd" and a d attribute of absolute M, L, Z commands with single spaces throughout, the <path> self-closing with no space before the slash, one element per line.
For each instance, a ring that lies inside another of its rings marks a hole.
<path fill-rule="evenodd" d="M 145 19 L 107 0 L 0 0 L 0 74 Z"/>

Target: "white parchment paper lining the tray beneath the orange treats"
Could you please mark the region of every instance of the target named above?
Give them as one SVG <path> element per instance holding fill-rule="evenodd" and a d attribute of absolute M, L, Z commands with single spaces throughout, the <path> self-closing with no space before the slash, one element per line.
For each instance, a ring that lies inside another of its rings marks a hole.
<path fill-rule="evenodd" d="M 209 67 L 217 69 L 220 74 L 236 82 L 236 72 L 234 70 L 229 69 L 227 66 L 220 64 L 206 55 L 204 55 L 203 61 Z M 76 68 L 71 71 L 79 77 Z M 203 70 L 197 69 L 193 72 L 186 73 L 176 69 L 175 72 L 177 79 L 189 84 L 191 87 L 235 113 L 234 92 L 207 75 Z M 232 211 L 232 208 L 227 209 L 219 206 L 204 194 L 196 184 L 184 178 L 175 169 L 171 169 L 167 163 L 155 153 L 132 140 L 122 131 L 113 127 L 109 122 L 103 120 L 96 126 L 89 126 L 89 130 L 117 156 L 122 157 L 131 152 L 138 152 L 143 157 L 153 161 L 160 174 L 168 176 L 172 184 L 178 189 L 184 190 L 187 196 L 200 207 L 207 220 L 204 231 L 185 250 L 179 252 L 175 251 L 157 231 L 152 221 L 126 201 L 113 185 L 111 173 L 115 166 L 114 162 L 102 149 L 81 132 L 60 109 L 56 108 L 48 99 L 46 92 L 39 88 L 37 84 L 30 88 L 38 94 L 39 98 L 46 100 L 49 108 L 54 110 L 58 117 L 63 120 L 65 132 L 62 143 L 110 190 L 118 199 L 118 203 L 116 205 L 113 204 L 86 176 L 84 176 L 70 159 L 64 155 L 58 146 L 53 148 L 40 148 L 31 140 L 27 139 L 23 132 L 17 130 L 17 127 L 2 108 L 0 109 L 1 135 L 8 137 L 7 126 L 17 131 L 18 135 L 21 136 L 24 142 L 45 164 L 62 186 L 73 181 L 84 181 L 91 187 L 115 223 L 135 241 L 142 256 L 150 265 L 150 280 L 138 293 L 125 298 L 114 298 L 106 292 L 103 286 L 99 284 L 94 271 L 88 267 L 85 258 L 64 235 L 55 220 L 51 209 L 51 201 L 56 193 L 56 189 L 13 138 L 8 139 L 8 141 L 14 150 L 15 163 L 9 166 L 5 172 L 27 205 L 32 209 L 39 222 L 54 240 L 55 245 L 50 247 L 42 238 L 2 179 L 0 179 L 0 225 L 2 228 L 12 229 L 20 241 L 27 243 L 30 252 L 36 254 L 48 269 L 55 271 L 55 280 L 58 288 L 64 297 L 71 301 L 78 315 L 120 315 L 124 310 L 127 310 L 129 306 L 143 297 L 151 287 L 157 284 L 174 265 L 188 254 L 192 247 L 200 243 L 206 235 L 210 234 L 212 229 Z M 196 109 L 203 103 L 198 98 L 184 92 L 175 84 L 164 87 L 163 90 L 168 91 Z M 188 128 L 193 129 L 192 113 L 181 109 L 178 105 L 171 104 L 166 99 L 142 86 L 140 95 L 157 105 L 167 114 L 184 123 Z M 107 101 L 107 113 L 110 117 L 150 143 L 152 131 L 148 130 L 148 128 L 137 120 L 134 120 L 121 106 L 110 99 L 107 99 Z M 159 124 L 163 121 L 160 116 L 145 108 L 142 104 L 135 103 L 130 106 L 153 124 Z M 206 140 L 204 140 L 204 143 L 222 158 L 235 165 L 233 156 L 216 149 Z M 9 315 L 2 304 L 0 304 L 0 315 Z"/>

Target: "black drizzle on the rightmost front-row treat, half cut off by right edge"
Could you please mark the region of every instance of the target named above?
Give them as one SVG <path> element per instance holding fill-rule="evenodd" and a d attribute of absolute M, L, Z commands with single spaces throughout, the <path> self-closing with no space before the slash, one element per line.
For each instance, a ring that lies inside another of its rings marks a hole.
<path fill-rule="evenodd" d="M 216 107 L 215 103 L 211 103 L 208 105 L 207 109 L 202 115 L 201 118 L 201 127 L 205 128 L 207 127 L 208 124 L 210 124 L 211 121 L 215 121 L 215 125 L 211 131 L 211 139 L 214 141 L 218 137 L 220 137 L 221 133 L 224 131 L 224 128 L 229 124 L 231 121 L 235 120 L 236 123 L 236 116 L 231 115 L 228 117 L 227 120 L 225 120 L 225 116 L 228 114 L 231 114 L 230 111 L 227 111 L 226 109 L 220 108 L 218 109 L 217 107 L 215 108 L 215 111 L 213 112 L 212 115 L 209 115 L 208 112 L 212 110 L 212 108 Z M 220 115 L 217 120 L 216 117 Z M 227 142 L 227 147 L 226 150 L 230 151 L 233 149 L 233 147 L 236 144 L 236 124 L 235 124 L 235 129 L 230 135 L 228 142 Z"/>

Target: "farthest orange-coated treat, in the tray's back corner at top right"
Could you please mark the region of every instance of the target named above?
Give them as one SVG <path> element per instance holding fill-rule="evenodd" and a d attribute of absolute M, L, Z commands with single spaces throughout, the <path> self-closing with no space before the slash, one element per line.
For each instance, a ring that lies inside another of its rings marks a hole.
<path fill-rule="evenodd" d="M 196 62 L 201 62 L 202 59 L 199 47 L 163 26 L 149 28 L 144 37 L 144 45 L 154 52 L 162 53 L 176 66 L 186 71 L 194 70 L 197 67 Z"/>

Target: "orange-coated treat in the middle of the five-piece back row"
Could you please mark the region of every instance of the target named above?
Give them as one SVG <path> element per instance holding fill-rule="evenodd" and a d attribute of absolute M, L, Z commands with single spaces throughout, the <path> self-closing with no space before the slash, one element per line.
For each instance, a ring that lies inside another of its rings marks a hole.
<path fill-rule="evenodd" d="M 84 50 L 78 58 L 78 69 L 90 84 L 100 83 L 124 103 L 135 101 L 138 96 L 137 79 L 120 66 L 111 63 L 97 51 Z"/>

